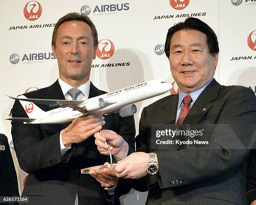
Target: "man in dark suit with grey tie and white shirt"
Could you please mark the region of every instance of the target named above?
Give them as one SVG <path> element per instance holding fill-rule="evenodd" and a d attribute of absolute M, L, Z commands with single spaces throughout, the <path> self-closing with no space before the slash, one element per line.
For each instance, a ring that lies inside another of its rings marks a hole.
<path fill-rule="evenodd" d="M 52 36 L 59 79 L 47 88 L 24 95 L 34 99 L 86 100 L 105 94 L 89 79 L 97 43 L 97 30 L 90 18 L 78 13 L 60 18 Z M 56 108 L 38 106 L 44 111 Z M 27 117 L 19 101 L 15 101 L 11 112 L 13 117 Z M 82 168 L 108 161 L 107 156 L 98 152 L 92 136 L 102 128 L 113 130 L 126 140 L 115 157 L 126 156 L 128 147 L 129 152 L 133 150 L 133 116 L 121 118 L 118 114 L 109 114 L 104 118 L 100 114 L 88 114 L 64 124 L 12 121 L 18 162 L 29 174 L 22 195 L 29 196 L 31 204 L 120 204 L 118 197 L 130 190 L 122 185 L 122 180 L 110 177 L 99 183 L 90 175 L 80 174 Z"/>

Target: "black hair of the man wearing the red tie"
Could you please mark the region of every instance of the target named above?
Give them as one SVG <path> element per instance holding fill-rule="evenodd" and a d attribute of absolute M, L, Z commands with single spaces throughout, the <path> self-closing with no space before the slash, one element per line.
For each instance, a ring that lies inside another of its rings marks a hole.
<path fill-rule="evenodd" d="M 193 30 L 199 30 L 202 33 L 205 33 L 206 35 L 206 43 L 209 47 L 210 54 L 214 55 L 216 53 L 219 53 L 219 43 L 216 34 L 210 28 L 209 25 L 207 25 L 205 22 L 201 21 L 198 18 L 189 17 L 184 22 L 179 22 L 176 25 L 169 28 L 167 35 L 166 35 L 166 41 L 165 41 L 165 47 L 164 51 L 166 56 L 169 58 L 170 56 L 170 44 L 172 35 L 176 33 L 179 30 L 186 30 L 186 29 L 193 29 Z"/>

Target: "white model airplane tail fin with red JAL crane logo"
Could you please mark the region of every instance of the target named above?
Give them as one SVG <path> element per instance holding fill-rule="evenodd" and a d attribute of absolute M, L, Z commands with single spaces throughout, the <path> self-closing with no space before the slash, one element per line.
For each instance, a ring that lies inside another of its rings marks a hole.
<path fill-rule="evenodd" d="M 21 95 L 18 98 L 26 98 L 25 96 Z M 20 104 L 22 105 L 23 109 L 26 111 L 26 114 L 29 118 L 37 119 L 38 116 L 45 113 L 41 108 L 39 108 L 36 104 L 32 102 L 22 101 L 20 100 Z"/>

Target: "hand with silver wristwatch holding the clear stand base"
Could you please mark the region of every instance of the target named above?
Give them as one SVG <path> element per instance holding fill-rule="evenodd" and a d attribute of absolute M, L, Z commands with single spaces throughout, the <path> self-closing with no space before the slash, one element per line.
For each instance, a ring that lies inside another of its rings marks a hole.
<path fill-rule="evenodd" d="M 119 178 L 140 179 L 147 175 L 149 154 L 145 152 L 134 152 L 125 159 L 118 162 L 115 167 L 116 176 Z"/>

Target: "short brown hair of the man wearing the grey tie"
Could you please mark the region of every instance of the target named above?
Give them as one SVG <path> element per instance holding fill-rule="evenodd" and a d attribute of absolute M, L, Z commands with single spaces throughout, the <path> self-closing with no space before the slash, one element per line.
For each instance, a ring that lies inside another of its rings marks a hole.
<path fill-rule="evenodd" d="M 92 36 L 93 36 L 93 40 L 94 40 L 94 48 L 96 48 L 97 44 L 98 44 L 98 33 L 97 30 L 95 28 L 95 25 L 92 23 L 92 21 L 90 20 L 90 18 L 86 15 L 80 14 L 80 13 L 68 13 L 66 15 L 64 15 L 63 17 L 61 17 L 58 22 L 56 23 L 55 27 L 54 27 L 54 31 L 52 33 L 52 38 L 51 38 L 51 43 L 54 45 L 55 47 L 55 43 L 56 43 L 56 35 L 57 35 L 57 29 L 59 28 L 59 26 L 66 22 L 66 21 L 71 21 L 71 20 L 81 20 L 84 23 L 87 23 L 90 28 L 92 29 Z"/>

